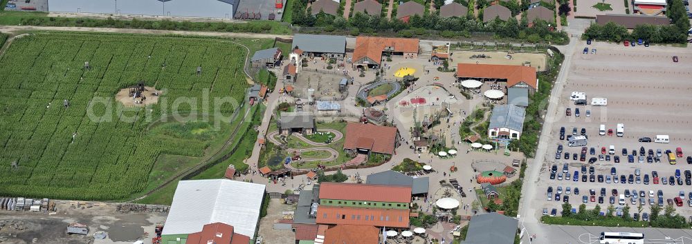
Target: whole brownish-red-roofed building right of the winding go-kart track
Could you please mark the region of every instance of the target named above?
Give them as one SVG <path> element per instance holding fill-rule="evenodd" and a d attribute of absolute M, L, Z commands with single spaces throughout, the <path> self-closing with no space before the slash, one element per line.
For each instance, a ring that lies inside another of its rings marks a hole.
<path fill-rule="evenodd" d="M 394 154 L 399 146 L 399 130 L 396 127 L 348 123 L 344 150 L 358 154 Z"/>

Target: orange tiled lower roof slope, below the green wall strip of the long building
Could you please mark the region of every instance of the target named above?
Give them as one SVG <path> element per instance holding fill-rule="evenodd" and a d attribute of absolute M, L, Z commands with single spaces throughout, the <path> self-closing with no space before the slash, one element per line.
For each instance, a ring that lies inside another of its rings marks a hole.
<path fill-rule="evenodd" d="M 321 190 L 320 190 L 321 191 Z M 374 225 L 408 228 L 410 211 L 363 207 L 317 207 L 317 223 L 329 225 Z M 338 217 L 337 217 L 338 215 Z M 368 220 L 365 220 L 367 216 Z M 374 220 L 372 219 L 374 218 Z M 399 221 L 401 220 L 401 221 Z M 325 241 L 325 243 L 327 243 Z"/>

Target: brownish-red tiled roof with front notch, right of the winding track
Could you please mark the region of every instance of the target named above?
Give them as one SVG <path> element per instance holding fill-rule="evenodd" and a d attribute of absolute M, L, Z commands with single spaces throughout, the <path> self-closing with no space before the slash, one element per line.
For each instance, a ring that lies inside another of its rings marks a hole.
<path fill-rule="evenodd" d="M 373 124 L 348 123 L 344 149 L 356 149 L 358 139 L 369 138 L 374 141 L 372 152 L 394 154 L 394 143 L 397 140 L 397 128 Z"/>

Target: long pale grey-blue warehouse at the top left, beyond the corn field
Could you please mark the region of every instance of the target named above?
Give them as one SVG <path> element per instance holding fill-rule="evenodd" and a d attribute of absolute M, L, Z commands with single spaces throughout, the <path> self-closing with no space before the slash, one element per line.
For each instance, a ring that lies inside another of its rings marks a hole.
<path fill-rule="evenodd" d="M 48 0 L 48 12 L 233 19 L 240 0 Z M 267 13 L 268 14 L 268 13 Z"/>

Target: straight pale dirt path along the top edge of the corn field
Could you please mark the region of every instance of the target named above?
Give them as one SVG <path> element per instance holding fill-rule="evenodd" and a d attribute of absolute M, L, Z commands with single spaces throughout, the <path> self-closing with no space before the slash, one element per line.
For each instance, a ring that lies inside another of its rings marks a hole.
<path fill-rule="evenodd" d="M 75 31 L 75 32 L 109 32 L 109 33 L 130 33 L 130 34 L 180 34 L 185 36 L 207 36 L 207 37 L 243 37 L 258 39 L 274 39 L 280 37 L 292 39 L 291 35 L 281 34 L 258 34 L 258 33 L 233 33 L 233 32 L 199 32 L 183 30 L 141 30 L 127 28 L 91 28 L 91 27 L 56 27 L 56 26 L 0 26 L 0 32 L 24 32 L 32 30 L 53 30 L 53 31 Z"/>

